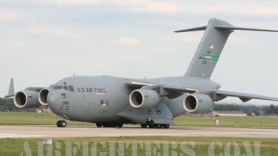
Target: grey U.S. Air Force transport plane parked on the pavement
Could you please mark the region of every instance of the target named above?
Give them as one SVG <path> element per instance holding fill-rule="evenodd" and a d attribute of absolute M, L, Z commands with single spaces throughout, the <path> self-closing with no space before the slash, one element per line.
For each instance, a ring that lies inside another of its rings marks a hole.
<path fill-rule="evenodd" d="M 8 96 L 14 96 L 17 107 L 48 105 L 56 115 L 58 127 L 70 121 L 96 123 L 97 127 L 122 127 L 123 123 L 140 123 L 142 128 L 169 128 L 173 118 L 184 114 L 203 113 L 227 96 L 250 101 L 252 98 L 278 101 L 278 98 L 227 92 L 210 80 L 224 44 L 234 30 L 271 31 L 232 26 L 220 19 L 210 19 L 207 26 L 188 31 L 205 31 L 184 76 L 154 79 L 131 79 L 114 76 L 72 76 L 50 87 L 27 87 L 13 92 L 13 79 Z M 278 31 L 272 31 L 278 32 Z"/>

